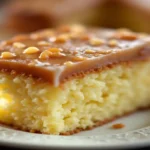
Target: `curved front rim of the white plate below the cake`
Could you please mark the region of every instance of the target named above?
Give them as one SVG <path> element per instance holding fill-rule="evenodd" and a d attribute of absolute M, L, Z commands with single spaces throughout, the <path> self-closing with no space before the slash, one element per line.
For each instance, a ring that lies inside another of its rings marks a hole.
<path fill-rule="evenodd" d="M 0 145 L 12 147 L 28 147 L 28 148 L 99 148 L 99 149 L 118 149 L 118 148 L 132 148 L 150 145 L 150 126 L 108 135 L 95 136 L 60 136 L 60 135 L 44 135 L 36 133 L 27 133 L 6 127 L 0 127 Z M 22 138 L 20 138 L 20 136 Z M 31 142 L 31 139 L 32 142 Z M 38 140 L 37 140 L 38 139 Z M 39 142 L 46 140 L 42 144 Z M 51 140 L 51 142 L 50 142 Z M 52 144 L 54 141 L 61 141 L 61 143 Z M 64 145 L 64 142 L 74 141 L 74 144 Z M 81 141 L 83 143 L 81 144 Z M 38 143 L 39 142 L 39 143 Z M 50 142 L 50 143 L 47 143 Z M 113 142 L 113 143 L 112 143 Z M 86 145 L 85 145 L 86 143 Z M 128 143 L 128 144 L 127 144 Z"/>

